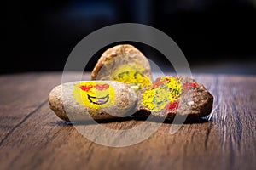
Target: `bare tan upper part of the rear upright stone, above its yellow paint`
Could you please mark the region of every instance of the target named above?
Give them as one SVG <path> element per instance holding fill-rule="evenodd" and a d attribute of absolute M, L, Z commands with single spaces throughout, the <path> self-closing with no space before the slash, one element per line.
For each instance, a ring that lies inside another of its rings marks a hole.
<path fill-rule="evenodd" d="M 137 48 L 129 44 L 117 45 L 105 51 L 91 72 L 90 80 L 113 80 L 113 71 L 122 65 L 144 68 L 142 74 L 152 81 L 148 59 Z"/>

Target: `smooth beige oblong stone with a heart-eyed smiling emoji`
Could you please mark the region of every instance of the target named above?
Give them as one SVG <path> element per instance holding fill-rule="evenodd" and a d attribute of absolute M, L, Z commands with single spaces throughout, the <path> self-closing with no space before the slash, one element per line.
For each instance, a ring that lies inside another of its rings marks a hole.
<path fill-rule="evenodd" d="M 108 119 L 133 114 L 137 94 L 125 83 L 112 81 L 67 82 L 49 93 L 49 106 L 65 121 Z"/>

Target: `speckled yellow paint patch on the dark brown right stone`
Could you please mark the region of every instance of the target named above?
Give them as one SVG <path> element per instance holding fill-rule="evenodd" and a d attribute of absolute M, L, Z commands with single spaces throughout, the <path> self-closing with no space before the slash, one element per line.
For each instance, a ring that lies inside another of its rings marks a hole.
<path fill-rule="evenodd" d="M 146 87 L 142 105 L 150 111 L 162 111 L 166 105 L 179 99 L 181 93 L 182 85 L 177 78 L 160 77 L 153 85 Z"/>

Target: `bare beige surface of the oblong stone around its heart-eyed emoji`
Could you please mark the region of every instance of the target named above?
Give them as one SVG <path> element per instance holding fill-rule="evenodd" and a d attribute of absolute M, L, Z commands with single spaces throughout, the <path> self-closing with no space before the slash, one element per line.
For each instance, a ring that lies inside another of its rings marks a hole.
<path fill-rule="evenodd" d="M 105 82 L 115 90 L 114 105 L 97 110 L 80 105 L 73 97 L 73 87 L 78 82 L 61 84 L 49 93 L 49 106 L 56 116 L 64 121 L 86 121 L 93 119 L 107 119 L 116 116 L 125 116 L 135 112 L 137 94 L 127 84 L 122 82 Z M 91 116 L 90 116 L 91 115 Z"/>

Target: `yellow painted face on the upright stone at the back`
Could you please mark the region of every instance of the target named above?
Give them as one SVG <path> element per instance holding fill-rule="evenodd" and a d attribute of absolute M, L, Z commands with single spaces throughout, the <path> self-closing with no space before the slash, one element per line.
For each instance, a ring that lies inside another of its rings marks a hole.
<path fill-rule="evenodd" d="M 143 75 L 145 69 L 137 65 L 123 65 L 113 71 L 112 78 L 114 81 L 129 84 L 135 91 L 145 85 L 151 84 L 149 77 Z"/>

